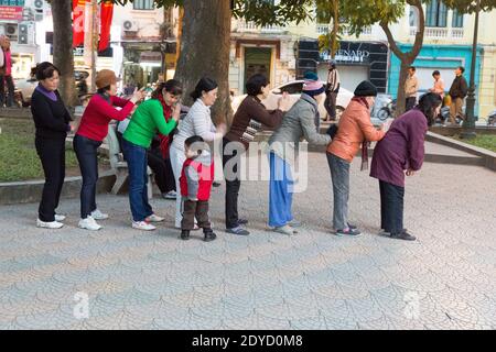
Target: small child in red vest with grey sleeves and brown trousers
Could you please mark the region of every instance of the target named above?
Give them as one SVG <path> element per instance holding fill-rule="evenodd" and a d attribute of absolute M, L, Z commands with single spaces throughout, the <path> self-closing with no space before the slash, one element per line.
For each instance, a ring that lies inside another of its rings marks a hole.
<path fill-rule="evenodd" d="M 181 239 L 188 240 L 190 231 L 195 226 L 203 228 L 204 241 L 214 241 L 217 235 L 212 230 L 208 219 L 208 199 L 214 182 L 214 160 L 200 135 L 193 135 L 184 142 L 186 161 L 181 172 L 180 185 L 183 201 L 183 220 Z"/>

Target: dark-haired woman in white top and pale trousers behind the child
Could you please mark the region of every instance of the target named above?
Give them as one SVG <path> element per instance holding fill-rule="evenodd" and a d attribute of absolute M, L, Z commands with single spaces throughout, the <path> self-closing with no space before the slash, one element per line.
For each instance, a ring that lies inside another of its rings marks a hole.
<path fill-rule="evenodd" d="M 203 77 L 196 84 L 195 90 L 191 97 L 195 101 L 187 112 L 184 120 L 177 128 L 171 146 L 171 164 L 175 177 L 175 187 L 181 188 L 180 177 L 183 164 L 186 161 L 184 155 L 184 142 L 193 135 L 200 135 L 205 142 L 220 141 L 226 134 L 226 124 L 220 123 L 217 128 L 212 122 L 211 107 L 217 100 L 218 85 L 211 78 Z M 175 209 L 175 228 L 181 229 L 182 220 L 182 199 L 177 197 Z"/>

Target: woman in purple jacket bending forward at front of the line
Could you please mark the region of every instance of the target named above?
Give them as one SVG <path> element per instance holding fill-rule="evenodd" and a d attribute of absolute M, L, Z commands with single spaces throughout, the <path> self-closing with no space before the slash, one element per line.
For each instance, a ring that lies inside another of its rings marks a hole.
<path fill-rule="evenodd" d="M 393 239 L 416 240 L 403 228 L 405 175 L 413 176 L 422 167 L 425 133 L 441 102 L 438 94 L 423 95 L 414 109 L 392 122 L 374 150 L 370 176 L 379 179 L 380 228 Z"/>

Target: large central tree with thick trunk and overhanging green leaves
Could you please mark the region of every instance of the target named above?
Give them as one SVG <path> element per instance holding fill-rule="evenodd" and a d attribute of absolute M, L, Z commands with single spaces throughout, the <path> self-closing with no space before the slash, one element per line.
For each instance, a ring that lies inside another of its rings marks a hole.
<path fill-rule="evenodd" d="M 132 2 L 114 1 L 121 6 Z M 159 8 L 179 6 L 184 9 L 175 78 L 186 92 L 194 89 L 202 76 L 215 79 L 219 85 L 219 98 L 213 116 L 216 121 L 229 122 L 233 116 L 228 87 L 231 16 L 258 25 L 299 23 L 309 18 L 305 6 L 311 2 L 313 0 L 281 0 L 278 4 L 267 0 L 155 0 Z M 187 95 L 183 100 L 193 102 Z"/>

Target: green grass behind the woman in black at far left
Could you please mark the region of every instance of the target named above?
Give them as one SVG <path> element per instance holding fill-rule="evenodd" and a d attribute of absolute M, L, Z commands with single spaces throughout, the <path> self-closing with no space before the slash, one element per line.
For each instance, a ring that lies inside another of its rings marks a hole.
<path fill-rule="evenodd" d="M 34 122 L 0 119 L 0 182 L 43 179 L 43 168 L 34 146 Z M 78 167 L 76 154 L 67 148 L 66 168 Z"/>

